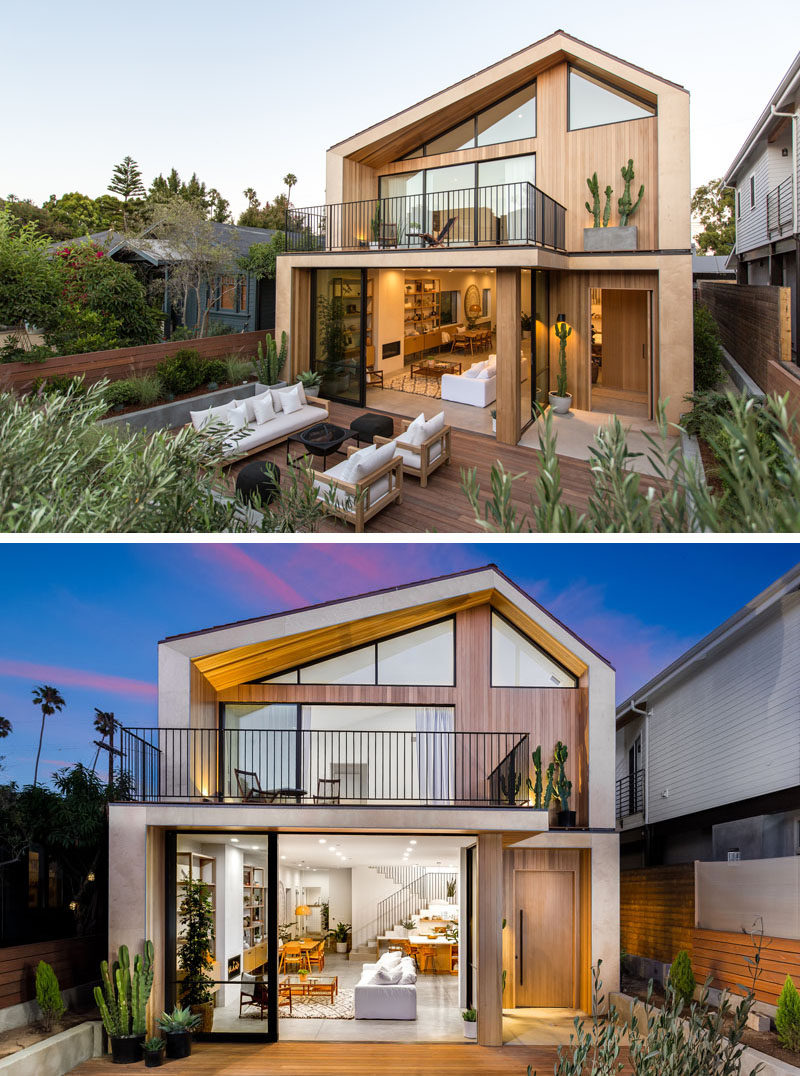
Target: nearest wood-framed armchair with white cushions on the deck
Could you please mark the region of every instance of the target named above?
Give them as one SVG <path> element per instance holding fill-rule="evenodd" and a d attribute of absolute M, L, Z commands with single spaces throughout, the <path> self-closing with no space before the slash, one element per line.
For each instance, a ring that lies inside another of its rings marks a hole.
<path fill-rule="evenodd" d="M 375 443 L 379 440 L 384 444 L 389 443 L 388 438 L 378 437 L 375 438 Z M 363 533 L 364 524 L 389 505 L 395 500 L 398 505 L 403 502 L 403 457 L 396 453 L 373 470 L 360 468 L 360 477 L 352 481 L 347 477 L 346 466 L 350 457 L 364 451 L 351 445 L 346 461 L 326 471 L 312 472 L 317 499 L 333 515 L 352 523 L 356 534 Z M 366 466 L 366 457 L 361 458 L 365 459 Z"/>

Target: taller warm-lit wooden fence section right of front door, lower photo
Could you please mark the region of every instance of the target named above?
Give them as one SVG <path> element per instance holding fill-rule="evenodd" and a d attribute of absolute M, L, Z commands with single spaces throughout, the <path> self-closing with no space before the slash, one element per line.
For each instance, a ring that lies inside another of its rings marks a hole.
<path fill-rule="evenodd" d="M 619 876 L 619 937 L 633 957 L 671 964 L 694 929 L 694 867 L 622 870 Z"/>

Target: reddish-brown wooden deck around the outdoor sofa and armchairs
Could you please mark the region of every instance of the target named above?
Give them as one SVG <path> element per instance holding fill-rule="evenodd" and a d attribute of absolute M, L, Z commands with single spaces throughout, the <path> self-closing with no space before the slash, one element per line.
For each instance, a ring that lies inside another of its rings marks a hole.
<path fill-rule="evenodd" d="M 331 421 L 339 426 L 349 426 L 353 419 L 365 413 L 365 409 L 331 404 Z M 377 413 L 377 412 L 374 412 Z M 394 419 L 395 434 L 399 433 L 399 416 Z M 345 448 L 352 442 L 346 442 Z M 294 447 L 296 449 L 296 445 Z M 328 458 L 333 466 L 342 456 Z M 281 482 L 285 480 L 286 445 L 280 444 L 265 452 L 253 454 L 245 461 L 271 459 L 281 468 Z M 497 444 L 493 437 L 453 429 L 452 458 L 449 466 L 440 467 L 422 489 L 415 478 L 404 476 L 403 504 L 391 505 L 366 525 L 367 534 L 424 534 L 480 532 L 475 522 L 469 501 L 461 489 L 461 471 L 478 468 L 478 481 L 483 494 L 489 490 L 489 472 L 493 463 L 500 459 L 506 470 L 514 475 L 528 473 L 515 485 L 514 504 L 519 515 L 530 515 L 530 496 L 536 475 L 536 457 L 531 449 Z M 589 465 L 580 459 L 561 457 L 561 480 L 564 502 L 581 511 L 586 509 L 590 491 Z M 235 476 L 243 464 L 234 464 L 228 473 Z M 320 528 L 323 533 L 352 534 L 353 528 L 338 520 L 327 519 Z"/>

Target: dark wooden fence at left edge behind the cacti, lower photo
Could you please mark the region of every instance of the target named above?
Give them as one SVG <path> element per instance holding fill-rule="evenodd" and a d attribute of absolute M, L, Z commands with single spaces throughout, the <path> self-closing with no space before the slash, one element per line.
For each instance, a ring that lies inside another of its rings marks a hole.
<path fill-rule="evenodd" d="M 99 979 L 106 949 L 106 938 L 100 935 L 56 938 L 0 949 L 0 1008 L 36 997 L 36 972 L 40 960 L 53 966 L 61 990 Z"/>

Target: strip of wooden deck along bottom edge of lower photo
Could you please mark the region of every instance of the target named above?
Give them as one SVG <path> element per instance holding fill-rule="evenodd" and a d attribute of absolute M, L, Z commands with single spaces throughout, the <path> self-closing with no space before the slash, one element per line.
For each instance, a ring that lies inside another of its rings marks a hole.
<path fill-rule="evenodd" d="M 191 1058 L 165 1062 L 181 1076 L 524 1076 L 533 1065 L 538 1076 L 553 1071 L 555 1046 L 483 1047 L 429 1043 L 207 1043 L 195 1045 Z M 129 1073 L 144 1062 L 128 1065 Z M 630 1070 L 627 1070 L 630 1072 Z M 71 1076 L 117 1076 L 111 1058 L 84 1061 Z"/>

